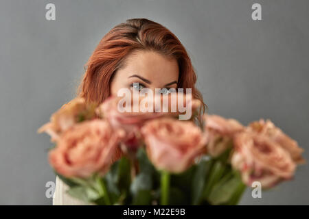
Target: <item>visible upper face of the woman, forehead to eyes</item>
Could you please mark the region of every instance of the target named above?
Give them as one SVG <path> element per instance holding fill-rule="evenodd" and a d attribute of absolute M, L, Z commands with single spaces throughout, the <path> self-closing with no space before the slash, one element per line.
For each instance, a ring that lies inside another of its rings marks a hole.
<path fill-rule="evenodd" d="M 136 51 L 128 55 L 126 65 L 115 73 L 111 94 L 117 96 L 121 88 L 150 88 L 153 93 L 155 88 L 177 88 L 178 77 L 179 66 L 175 59 L 155 51 Z"/>

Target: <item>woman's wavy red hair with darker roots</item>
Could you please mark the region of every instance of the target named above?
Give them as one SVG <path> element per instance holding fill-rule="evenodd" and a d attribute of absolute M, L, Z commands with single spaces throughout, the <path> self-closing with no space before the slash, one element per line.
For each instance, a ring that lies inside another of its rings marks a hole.
<path fill-rule="evenodd" d="M 196 74 L 185 47 L 172 32 L 146 18 L 128 19 L 115 26 L 102 38 L 85 65 L 86 73 L 78 96 L 87 102 L 102 103 L 111 94 L 111 80 L 126 57 L 137 50 L 156 51 L 173 57 L 179 64 L 177 88 L 192 88 L 192 96 L 202 103 L 198 121 L 205 112 L 201 93 L 195 88 Z M 185 92 L 185 89 L 184 89 Z"/>

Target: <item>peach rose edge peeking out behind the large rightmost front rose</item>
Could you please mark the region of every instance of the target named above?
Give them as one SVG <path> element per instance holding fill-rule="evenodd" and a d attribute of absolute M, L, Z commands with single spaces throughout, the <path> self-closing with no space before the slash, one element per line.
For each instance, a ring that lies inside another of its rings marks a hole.
<path fill-rule="evenodd" d="M 302 164 L 305 162 L 304 158 L 301 157 L 301 153 L 304 149 L 301 149 L 297 142 L 292 138 L 288 137 L 281 129 L 275 127 L 271 120 L 259 120 L 250 123 L 248 126 L 249 131 L 254 131 L 262 135 L 271 138 L 271 140 L 277 142 L 282 149 L 288 151 L 293 161 L 297 164 Z"/>

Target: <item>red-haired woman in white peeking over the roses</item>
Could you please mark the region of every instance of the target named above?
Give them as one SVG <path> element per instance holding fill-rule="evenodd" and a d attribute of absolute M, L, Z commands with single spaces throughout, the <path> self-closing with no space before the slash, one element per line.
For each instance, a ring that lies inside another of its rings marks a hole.
<path fill-rule="evenodd" d="M 201 123 L 205 104 L 194 87 L 196 74 L 185 47 L 170 30 L 146 18 L 129 19 L 109 31 L 93 51 L 78 96 L 102 103 L 121 88 L 191 88 L 201 101 L 196 116 Z M 185 92 L 185 89 L 184 89 Z M 54 205 L 84 205 L 65 193 L 67 186 L 56 179 Z"/>

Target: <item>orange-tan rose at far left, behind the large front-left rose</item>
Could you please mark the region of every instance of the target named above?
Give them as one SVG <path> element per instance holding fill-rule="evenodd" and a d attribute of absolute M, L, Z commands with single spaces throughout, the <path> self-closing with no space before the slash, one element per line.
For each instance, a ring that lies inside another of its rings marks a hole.
<path fill-rule="evenodd" d="M 52 137 L 52 142 L 56 142 L 60 135 L 74 124 L 94 118 L 95 107 L 95 103 L 87 104 L 82 98 L 73 99 L 52 114 L 50 122 L 38 129 L 38 133 L 46 132 Z"/>

